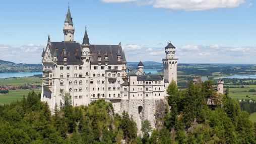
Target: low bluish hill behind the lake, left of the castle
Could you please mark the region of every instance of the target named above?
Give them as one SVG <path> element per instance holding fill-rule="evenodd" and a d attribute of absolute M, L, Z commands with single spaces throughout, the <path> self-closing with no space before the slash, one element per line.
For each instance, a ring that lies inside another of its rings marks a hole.
<path fill-rule="evenodd" d="M 0 60 L 0 73 L 8 72 L 38 72 L 42 71 L 41 64 L 16 64 L 10 61 Z"/>

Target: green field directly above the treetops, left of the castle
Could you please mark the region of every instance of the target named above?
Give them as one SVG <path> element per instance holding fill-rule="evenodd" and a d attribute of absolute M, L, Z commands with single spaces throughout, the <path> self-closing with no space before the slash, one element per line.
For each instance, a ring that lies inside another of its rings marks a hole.
<path fill-rule="evenodd" d="M 27 97 L 29 91 L 27 89 L 10 90 L 8 94 L 0 94 L 0 104 L 8 104 L 16 100 L 21 100 L 23 95 Z M 34 89 L 36 93 L 41 92 L 41 89 Z"/>

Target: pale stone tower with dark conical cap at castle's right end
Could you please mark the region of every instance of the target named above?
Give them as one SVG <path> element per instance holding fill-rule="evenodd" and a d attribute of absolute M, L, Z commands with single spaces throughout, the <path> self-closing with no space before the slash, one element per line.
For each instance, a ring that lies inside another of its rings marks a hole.
<path fill-rule="evenodd" d="M 175 47 L 168 43 L 165 47 L 165 59 L 163 59 L 164 80 L 169 83 L 174 80 L 177 83 L 178 59 L 175 59 Z"/>

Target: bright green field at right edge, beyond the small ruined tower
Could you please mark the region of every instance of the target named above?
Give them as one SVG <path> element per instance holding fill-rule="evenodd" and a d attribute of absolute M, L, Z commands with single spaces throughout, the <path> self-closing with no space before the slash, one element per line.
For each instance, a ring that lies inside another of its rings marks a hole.
<path fill-rule="evenodd" d="M 231 85 L 233 87 L 241 87 L 238 85 Z M 256 92 L 248 92 L 249 89 L 256 89 L 256 85 L 245 85 L 244 88 L 229 88 L 229 96 L 234 99 L 255 99 Z M 246 97 L 248 95 L 249 97 Z"/>

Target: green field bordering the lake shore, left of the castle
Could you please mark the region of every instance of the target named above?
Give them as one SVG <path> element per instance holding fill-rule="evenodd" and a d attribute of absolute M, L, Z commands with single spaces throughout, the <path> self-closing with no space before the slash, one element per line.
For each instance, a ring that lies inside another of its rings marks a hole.
<path fill-rule="evenodd" d="M 42 79 L 39 77 L 18 77 L 18 78 L 0 79 L 0 84 L 7 84 L 12 86 L 24 85 L 27 83 L 41 85 Z"/>

